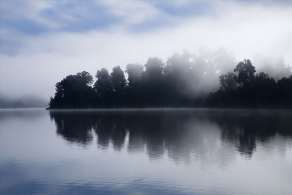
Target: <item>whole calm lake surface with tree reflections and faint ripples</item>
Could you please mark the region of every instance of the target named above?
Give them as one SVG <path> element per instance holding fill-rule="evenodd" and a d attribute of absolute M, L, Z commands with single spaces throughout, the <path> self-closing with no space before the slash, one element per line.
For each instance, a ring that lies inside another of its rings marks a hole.
<path fill-rule="evenodd" d="M 292 111 L 0 110 L 1 195 L 291 195 Z"/>

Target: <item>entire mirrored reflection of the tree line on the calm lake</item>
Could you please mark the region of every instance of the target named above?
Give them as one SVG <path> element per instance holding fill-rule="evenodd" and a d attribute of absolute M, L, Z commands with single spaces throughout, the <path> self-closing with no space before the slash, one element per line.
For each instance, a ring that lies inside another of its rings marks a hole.
<path fill-rule="evenodd" d="M 258 141 L 265 143 L 276 133 L 292 137 L 291 111 L 50 111 L 50 116 L 56 133 L 69 142 L 91 144 L 95 133 L 103 149 L 112 144 L 119 151 L 128 140 L 128 154 L 146 152 L 150 160 L 160 160 L 166 153 L 186 164 L 192 156 L 224 164 L 221 156 L 235 155 L 234 146 L 251 158 Z"/>

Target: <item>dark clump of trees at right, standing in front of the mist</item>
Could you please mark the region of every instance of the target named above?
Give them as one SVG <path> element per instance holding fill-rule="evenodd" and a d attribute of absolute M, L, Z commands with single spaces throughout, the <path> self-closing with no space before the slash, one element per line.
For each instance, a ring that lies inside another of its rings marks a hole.
<path fill-rule="evenodd" d="M 235 73 L 221 75 L 222 87 L 210 93 L 206 104 L 210 107 L 233 108 L 292 108 L 292 75 L 275 82 L 268 74 L 256 74 L 251 60 L 237 64 Z"/>

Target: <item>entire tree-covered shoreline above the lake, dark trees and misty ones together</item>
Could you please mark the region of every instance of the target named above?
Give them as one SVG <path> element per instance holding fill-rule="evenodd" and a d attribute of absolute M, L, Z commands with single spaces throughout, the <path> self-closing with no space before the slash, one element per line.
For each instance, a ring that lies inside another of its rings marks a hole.
<path fill-rule="evenodd" d="M 164 63 L 149 57 L 146 64 L 129 63 L 97 70 L 94 82 L 83 71 L 55 85 L 48 109 L 75 108 L 292 108 L 292 68 L 283 57 L 237 62 L 219 48 L 199 55 L 174 53 Z M 93 85 L 92 85 L 93 84 Z"/>

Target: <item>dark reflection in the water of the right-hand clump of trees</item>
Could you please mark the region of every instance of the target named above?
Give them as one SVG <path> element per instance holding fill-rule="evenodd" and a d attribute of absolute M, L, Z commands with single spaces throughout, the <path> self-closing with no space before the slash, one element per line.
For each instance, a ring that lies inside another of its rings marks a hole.
<path fill-rule="evenodd" d="M 292 136 L 291 111 L 222 111 L 209 117 L 218 123 L 221 140 L 235 143 L 239 154 L 252 157 L 256 141 L 265 143 L 276 133 Z"/>

